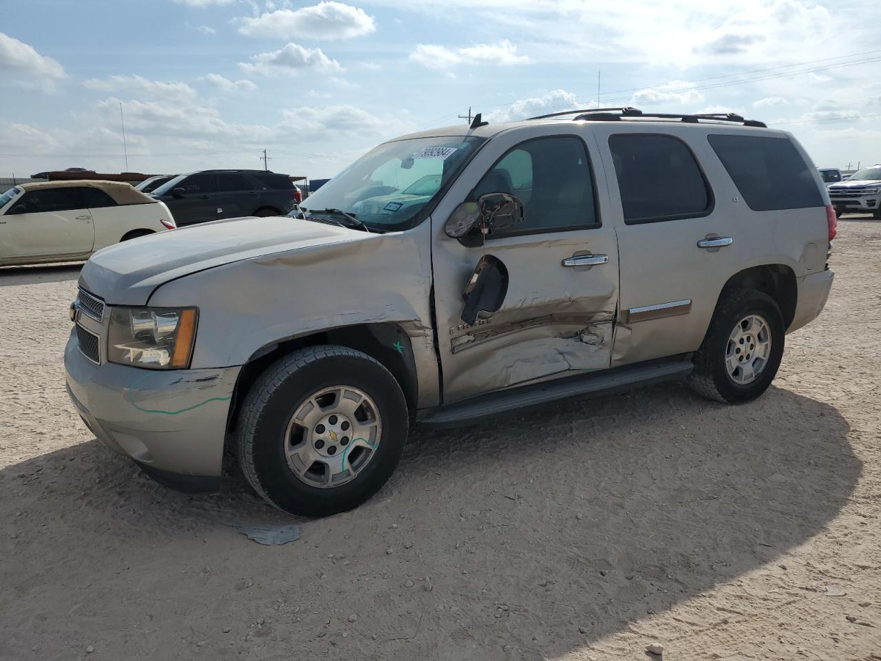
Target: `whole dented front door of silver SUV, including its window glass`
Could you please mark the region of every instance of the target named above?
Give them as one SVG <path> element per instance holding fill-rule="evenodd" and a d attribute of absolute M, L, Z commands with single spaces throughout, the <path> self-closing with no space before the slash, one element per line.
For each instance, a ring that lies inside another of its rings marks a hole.
<path fill-rule="evenodd" d="M 441 222 L 433 229 L 433 277 L 446 404 L 610 367 L 618 246 L 614 229 L 603 225 L 606 202 L 596 193 L 605 190 L 604 175 L 591 165 L 600 160 L 589 133 L 550 134 L 554 129 L 537 126 L 525 141 L 522 133 L 516 142 L 505 134 L 493 138 L 456 182 L 478 184 L 464 195 L 461 186 L 451 189 L 435 214 Z M 443 221 L 454 213 L 450 204 L 473 206 L 489 194 L 522 203 L 518 225 L 483 223 L 481 232 L 478 224 L 460 238 L 444 233 Z M 488 286 L 476 286 L 487 274 Z M 488 302 L 475 305 L 471 297 L 480 291 Z"/>

